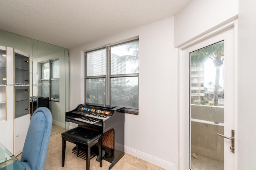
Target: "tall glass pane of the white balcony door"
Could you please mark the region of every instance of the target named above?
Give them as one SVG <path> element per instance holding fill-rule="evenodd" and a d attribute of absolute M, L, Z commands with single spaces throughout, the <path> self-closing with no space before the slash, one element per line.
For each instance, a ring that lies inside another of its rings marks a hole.
<path fill-rule="evenodd" d="M 190 53 L 192 170 L 224 170 L 224 41 Z"/>

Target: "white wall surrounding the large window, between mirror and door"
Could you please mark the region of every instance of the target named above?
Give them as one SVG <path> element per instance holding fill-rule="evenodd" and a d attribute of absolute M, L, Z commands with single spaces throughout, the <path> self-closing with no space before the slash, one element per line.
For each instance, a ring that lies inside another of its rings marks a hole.
<path fill-rule="evenodd" d="M 70 49 L 70 109 L 74 109 L 84 102 L 83 51 L 139 36 L 139 115 L 125 114 L 125 152 L 165 169 L 178 167 L 173 23 L 173 17 L 167 18 Z"/>

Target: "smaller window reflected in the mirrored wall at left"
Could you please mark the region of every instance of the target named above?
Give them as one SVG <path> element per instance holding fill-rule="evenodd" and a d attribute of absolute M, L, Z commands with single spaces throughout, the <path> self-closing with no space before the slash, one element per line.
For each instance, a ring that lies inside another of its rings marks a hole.
<path fill-rule="evenodd" d="M 50 65 L 49 65 L 50 63 Z M 41 96 L 60 100 L 60 60 L 41 63 Z"/>

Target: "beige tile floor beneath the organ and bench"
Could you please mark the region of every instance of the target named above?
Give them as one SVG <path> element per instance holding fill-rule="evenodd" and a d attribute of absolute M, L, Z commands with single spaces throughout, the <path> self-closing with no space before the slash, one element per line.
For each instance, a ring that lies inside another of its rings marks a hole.
<path fill-rule="evenodd" d="M 72 153 L 73 143 L 66 143 L 65 166 L 61 167 L 61 133 L 65 129 L 57 125 L 52 126 L 52 135 L 48 146 L 44 170 L 85 170 L 86 161 Z M 20 159 L 20 155 L 17 156 Z M 90 160 L 90 170 L 108 170 L 110 162 L 103 160 L 103 166 L 96 161 L 96 156 Z M 111 170 L 163 170 L 144 160 L 125 153 Z"/>

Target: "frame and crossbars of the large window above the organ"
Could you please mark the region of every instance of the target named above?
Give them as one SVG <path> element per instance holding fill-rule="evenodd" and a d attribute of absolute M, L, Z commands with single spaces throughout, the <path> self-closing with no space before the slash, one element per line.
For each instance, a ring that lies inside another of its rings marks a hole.
<path fill-rule="evenodd" d="M 131 39 L 130 41 L 122 41 L 119 43 L 114 43 L 111 45 L 106 45 L 101 48 L 97 48 L 94 50 L 90 51 L 85 51 L 84 52 L 84 101 L 86 102 L 86 79 L 92 79 L 92 78 L 105 78 L 105 97 L 106 97 L 106 104 L 110 105 L 110 79 L 111 78 L 122 78 L 122 77 L 138 77 L 138 98 L 139 98 L 139 72 L 138 73 L 129 73 L 129 74 L 112 74 L 111 75 L 111 47 L 117 46 L 117 45 L 122 45 L 126 43 L 130 43 L 133 41 L 139 41 L 138 38 L 136 39 Z M 98 51 L 101 49 L 106 50 L 106 73 L 105 75 L 101 76 L 87 76 L 87 53 L 90 53 L 92 51 Z M 139 100 L 138 100 L 139 101 Z M 138 102 L 138 108 L 139 108 L 139 102 Z M 132 109 L 132 108 L 126 108 L 125 107 L 125 113 L 130 113 L 134 115 L 138 115 L 139 109 Z"/>

